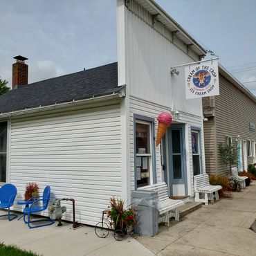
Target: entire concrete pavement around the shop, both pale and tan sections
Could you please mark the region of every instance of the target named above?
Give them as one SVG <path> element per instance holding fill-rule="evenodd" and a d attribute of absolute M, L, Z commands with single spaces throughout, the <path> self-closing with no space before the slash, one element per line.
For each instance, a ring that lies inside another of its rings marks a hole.
<path fill-rule="evenodd" d="M 2 211 L 0 212 L 0 214 Z M 84 226 L 72 230 L 64 226 L 28 229 L 22 219 L 0 219 L 0 242 L 16 244 L 44 256 L 52 255 L 256 255 L 256 234 L 250 226 L 256 219 L 256 183 L 232 199 L 221 199 L 212 205 L 160 226 L 155 237 L 105 239 L 95 235 L 94 228 Z"/>

